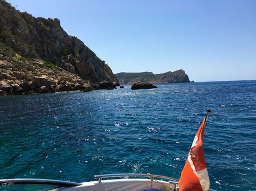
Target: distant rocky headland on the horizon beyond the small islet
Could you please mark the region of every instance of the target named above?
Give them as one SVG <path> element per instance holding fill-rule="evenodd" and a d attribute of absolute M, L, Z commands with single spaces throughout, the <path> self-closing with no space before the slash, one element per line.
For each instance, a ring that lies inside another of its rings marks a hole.
<path fill-rule="evenodd" d="M 189 76 L 184 70 L 168 71 L 163 74 L 153 74 L 152 72 L 142 73 L 118 73 L 115 74 L 121 85 L 130 85 L 138 81 L 149 83 L 183 83 L 190 82 Z"/>

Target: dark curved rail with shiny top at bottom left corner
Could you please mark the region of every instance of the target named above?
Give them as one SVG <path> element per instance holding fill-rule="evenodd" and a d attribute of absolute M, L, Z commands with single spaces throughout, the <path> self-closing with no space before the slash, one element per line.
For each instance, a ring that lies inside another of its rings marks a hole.
<path fill-rule="evenodd" d="M 37 179 L 37 178 L 14 178 L 14 179 L 2 179 L 0 180 L 0 186 L 9 186 L 17 184 L 45 184 L 45 185 L 55 185 L 59 187 L 74 187 L 80 186 L 81 183 L 69 182 L 69 181 L 59 181 L 59 180 L 49 180 L 49 179 Z"/>

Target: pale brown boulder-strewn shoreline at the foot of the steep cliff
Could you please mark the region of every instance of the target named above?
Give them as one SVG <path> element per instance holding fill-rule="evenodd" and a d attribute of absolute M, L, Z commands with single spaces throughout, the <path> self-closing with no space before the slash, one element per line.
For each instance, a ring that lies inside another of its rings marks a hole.
<path fill-rule="evenodd" d="M 3 50 L 0 54 L 0 96 L 63 91 L 88 92 L 93 89 L 114 89 L 118 85 L 117 82 L 83 80 L 77 74 L 39 59 L 28 59 L 18 54 L 12 57 Z"/>

